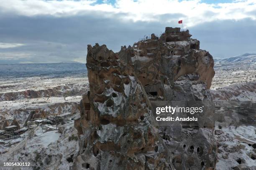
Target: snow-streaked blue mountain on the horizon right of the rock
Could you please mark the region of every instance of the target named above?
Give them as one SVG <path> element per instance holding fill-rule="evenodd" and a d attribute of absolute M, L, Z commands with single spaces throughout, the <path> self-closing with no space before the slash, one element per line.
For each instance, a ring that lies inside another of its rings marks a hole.
<path fill-rule="evenodd" d="M 256 62 L 256 54 L 245 53 L 243 55 L 237 55 L 228 58 L 214 58 L 215 63 L 230 63 L 234 64 L 236 62 Z"/>

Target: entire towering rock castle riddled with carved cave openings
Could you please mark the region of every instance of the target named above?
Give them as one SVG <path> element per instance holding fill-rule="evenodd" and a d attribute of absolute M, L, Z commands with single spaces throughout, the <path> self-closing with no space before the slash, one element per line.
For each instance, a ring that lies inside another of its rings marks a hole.
<path fill-rule="evenodd" d="M 209 88 L 214 62 L 188 31 L 166 28 L 161 37 L 121 47 L 88 45 L 90 92 L 75 120 L 78 169 L 215 169 L 214 107 Z M 204 121 L 156 125 L 156 101 L 199 101 Z"/>

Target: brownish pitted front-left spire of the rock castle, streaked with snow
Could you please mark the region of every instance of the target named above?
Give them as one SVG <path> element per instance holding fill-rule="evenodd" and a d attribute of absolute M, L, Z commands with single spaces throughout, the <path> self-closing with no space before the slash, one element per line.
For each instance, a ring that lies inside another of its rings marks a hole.
<path fill-rule="evenodd" d="M 83 96 L 80 155 L 74 169 L 170 169 L 168 152 L 133 67 L 123 65 L 105 45 L 88 45 L 90 92 Z"/>

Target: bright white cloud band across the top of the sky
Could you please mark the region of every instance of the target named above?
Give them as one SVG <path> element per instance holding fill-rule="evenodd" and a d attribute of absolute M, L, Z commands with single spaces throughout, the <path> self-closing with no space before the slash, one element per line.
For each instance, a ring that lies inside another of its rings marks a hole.
<path fill-rule="evenodd" d="M 2 1 L 2 0 L 0 0 Z M 17 13 L 18 15 L 53 15 L 56 17 L 78 15 L 83 12 L 125 13 L 119 19 L 136 21 L 171 22 L 184 20 L 186 26 L 194 26 L 214 20 L 256 20 L 255 0 L 235 0 L 232 3 L 207 4 L 201 0 L 116 0 L 112 5 L 96 4 L 96 0 L 3 0 L 0 3 L 2 13 Z M 161 20 L 159 15 L 181 14 L 178 18 Z M 92 13 L 93 15 L 93 13 Z M 104 17 L 113 17 L 105 15 Z"/>

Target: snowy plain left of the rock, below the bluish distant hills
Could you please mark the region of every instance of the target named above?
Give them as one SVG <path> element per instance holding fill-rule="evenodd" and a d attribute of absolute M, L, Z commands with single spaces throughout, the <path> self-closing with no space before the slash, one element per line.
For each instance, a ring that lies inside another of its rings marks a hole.
<path fill-rule="evenodd" d="M 78 112 L 88 87 L 87 75 L 67 77 L 0 77 L 0 128 L 8 120 L 23 125 L 32 110 L 48 114 Z"/>

